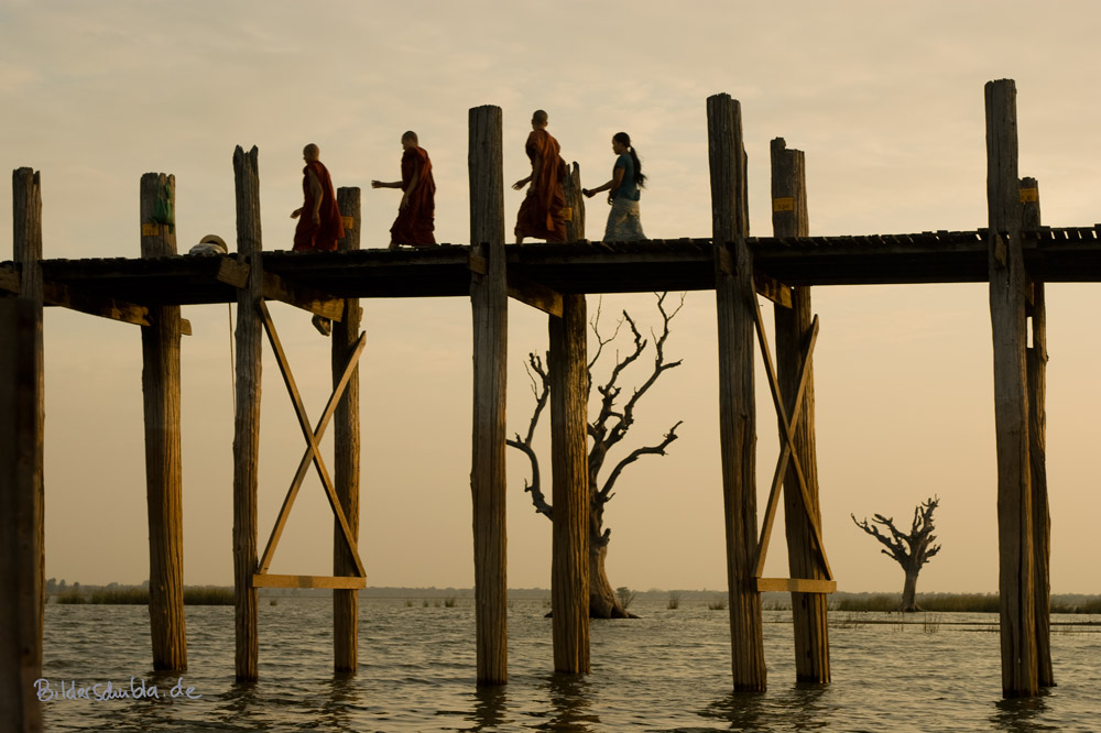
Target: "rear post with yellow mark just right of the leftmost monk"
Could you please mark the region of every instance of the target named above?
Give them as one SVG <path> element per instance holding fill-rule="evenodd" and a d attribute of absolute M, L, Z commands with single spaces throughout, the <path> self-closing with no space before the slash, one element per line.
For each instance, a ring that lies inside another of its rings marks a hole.
<path fill-rule="evenodd" d="M 345 218 L 341 252 L 359 250 L 360 189 L 338 188 L 337 206 Z M 348 225 L 351 226 L 348 226 Z M 333 386 L 340 382 L 345 365 L 359 339 L 362 311 L 359 298 L 345 300 L 345 317 L 333 324 Z M 348 379 L 344 396 L 333 415 L 334 481 L 337 499 L 348 519 L 352 539 L 359 541 L 359 366 Z M 356 573 L 356 559 L 348 551 L 340 522 L 333 526 L 333 575 Z M 356 671 L 359 667 L 359 591 L 333 591 L 333 659 L 336 671 Z"/>

